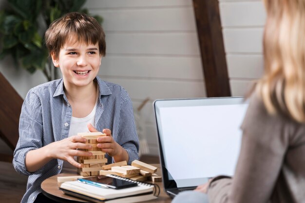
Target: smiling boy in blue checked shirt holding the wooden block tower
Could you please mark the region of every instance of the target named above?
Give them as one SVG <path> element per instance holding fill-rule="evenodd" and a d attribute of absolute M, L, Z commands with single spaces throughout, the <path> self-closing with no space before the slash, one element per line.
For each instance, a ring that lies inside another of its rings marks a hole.
<path fill-rule="evenodd" d="M 62 78 L 31 89 L 22 105 L 13 165 L 28 175 L 22 203 L 52 202 L 40 184 L 65 168 L 80 167 L 75 156 L 92 156 L 77 132 L 102 131 L 97 147 L 108 164 L 138 159 L 139 141 L 128 93 L 98 76 L 106 52 L 105 34 L 95 18 L 69 13 L 54 21 L 46 46 Z"/>

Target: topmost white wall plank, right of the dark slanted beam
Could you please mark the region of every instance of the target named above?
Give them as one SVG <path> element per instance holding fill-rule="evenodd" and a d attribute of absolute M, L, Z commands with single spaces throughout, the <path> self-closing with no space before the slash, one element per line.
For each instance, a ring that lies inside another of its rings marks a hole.
<path fill-rule="evenodd" d="M 223 2 L 219 4 L 223 27 L 263 26 L 266 12 L 261 1 Z"/>

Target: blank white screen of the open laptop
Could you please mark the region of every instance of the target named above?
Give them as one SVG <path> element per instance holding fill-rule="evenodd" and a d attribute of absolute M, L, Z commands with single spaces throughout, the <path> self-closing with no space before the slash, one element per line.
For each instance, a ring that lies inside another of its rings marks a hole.
<path fill-rule="evenodd" d="M 160 107 L 164 161 L 178 187 L 190 186 L 178 180 L 234 174 L 247 107 Z"/>

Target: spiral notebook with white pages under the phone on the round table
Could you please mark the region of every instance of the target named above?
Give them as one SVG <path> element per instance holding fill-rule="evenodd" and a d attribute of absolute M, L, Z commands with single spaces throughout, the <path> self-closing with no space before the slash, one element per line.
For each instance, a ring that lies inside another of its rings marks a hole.
<path fill-rule="evenodd" d="M 158 185 L 133 181 L 116 175 L 107 175 L 114 180 L 124 180 L 136 183 L 137 186 L 124 189 L 102 188 L 84 184 L 78 181 L 69 181 L 61 184 L 65 194 L 95 203 L 136 203 L 156 199 L 160 193 Z"/>

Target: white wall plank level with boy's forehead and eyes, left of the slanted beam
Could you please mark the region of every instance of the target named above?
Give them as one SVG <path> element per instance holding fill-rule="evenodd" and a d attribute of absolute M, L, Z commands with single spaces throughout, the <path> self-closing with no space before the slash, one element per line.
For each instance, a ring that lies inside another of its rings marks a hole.
<path fill-rule="evenodd" d="M 107 54 L 199 55 L 193 33 L 108 33 Z"/>

